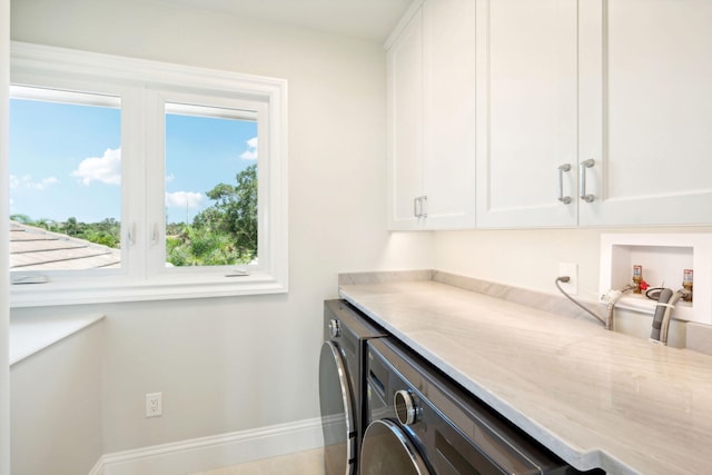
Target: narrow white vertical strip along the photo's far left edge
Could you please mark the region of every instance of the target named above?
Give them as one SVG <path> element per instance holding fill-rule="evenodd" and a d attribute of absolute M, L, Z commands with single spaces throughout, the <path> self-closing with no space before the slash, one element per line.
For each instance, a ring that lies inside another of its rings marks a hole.
<path fill-rule="evenodd" d="M 0 236 L 8 236 L 8 81 L 10 2 L 0 0 Z M 8 239 L 0 239 L 0 255 L 8 256 Z M 8 259 L 0 259 L 0 276 L 8 275 Z M 0 278 L 0 475 L 10 475 L 10 366 L 7 278 Z"/>

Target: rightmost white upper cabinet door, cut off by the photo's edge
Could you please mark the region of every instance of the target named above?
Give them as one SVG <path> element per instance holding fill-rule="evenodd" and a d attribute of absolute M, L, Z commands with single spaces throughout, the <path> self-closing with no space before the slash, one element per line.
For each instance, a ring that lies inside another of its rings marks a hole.
<path fill-rule="evenodd" d="M 580 224 L 712 222 L 712 2 L 580 8 Z"/>

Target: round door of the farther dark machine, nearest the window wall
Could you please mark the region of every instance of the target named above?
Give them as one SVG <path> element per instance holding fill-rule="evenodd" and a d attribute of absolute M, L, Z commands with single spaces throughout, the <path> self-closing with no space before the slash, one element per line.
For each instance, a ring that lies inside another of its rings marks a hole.
<path fill-rule="evenodd" d="M 319 404 L 326 474 L 354 474 L 356 457 L 354 392 L 344 357 L 334 342 L 325 342 L 322 345 Z"/>

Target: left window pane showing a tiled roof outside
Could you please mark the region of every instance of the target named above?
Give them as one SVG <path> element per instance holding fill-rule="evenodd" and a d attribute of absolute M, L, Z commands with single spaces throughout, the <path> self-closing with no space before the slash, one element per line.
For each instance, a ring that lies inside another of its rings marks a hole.
<path fill-rule="evenodd" d="M 10 269 L 121 265 L 119 98 L 13 88 Z"/>

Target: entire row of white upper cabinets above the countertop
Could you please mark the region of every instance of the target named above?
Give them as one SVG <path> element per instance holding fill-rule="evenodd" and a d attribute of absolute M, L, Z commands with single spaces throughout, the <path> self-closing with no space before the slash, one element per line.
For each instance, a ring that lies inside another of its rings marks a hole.
<path fill-rule="evenodd" d="M 388 50 L 390 229 L 712 224 L 711 0 L 414 8 Z"/>

